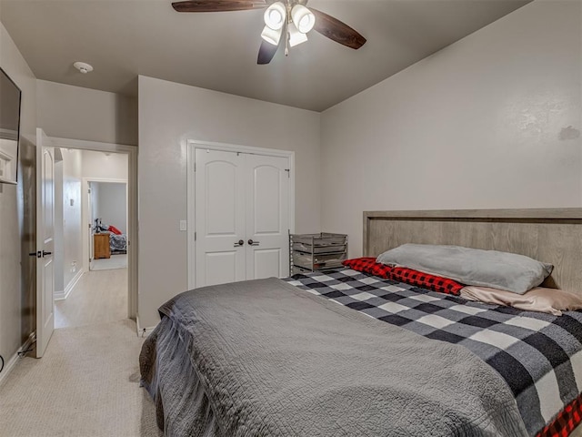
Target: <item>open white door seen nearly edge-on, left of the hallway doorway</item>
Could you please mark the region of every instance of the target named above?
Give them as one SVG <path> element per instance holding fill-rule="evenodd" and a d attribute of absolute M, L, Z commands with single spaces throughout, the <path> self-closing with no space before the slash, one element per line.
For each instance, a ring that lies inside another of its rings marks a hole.
<path fill-rule="evenodd" d="M 36 129 L 36 356 L 45 354 L 55 330 L 55 154 Z"/>

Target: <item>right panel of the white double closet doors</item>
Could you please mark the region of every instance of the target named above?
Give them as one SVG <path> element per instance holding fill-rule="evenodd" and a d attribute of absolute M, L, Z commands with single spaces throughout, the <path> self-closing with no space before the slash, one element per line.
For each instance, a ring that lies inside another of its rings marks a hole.
<path fill-rule="evenodd" d="M 288 158 L 246 155 L 246 279 L 289 274 Z"/>

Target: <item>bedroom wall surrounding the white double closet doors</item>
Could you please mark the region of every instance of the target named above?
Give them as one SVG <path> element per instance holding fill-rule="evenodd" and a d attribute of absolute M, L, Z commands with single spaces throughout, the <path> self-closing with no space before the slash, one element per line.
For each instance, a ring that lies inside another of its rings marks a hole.
<path fill-rule="evenodd" d="M 186 141 L 296 152 L 296 231 L 319 230 L 319 117 L 315 112 L 139 76 L 139 318 L 187 287 Z"/>

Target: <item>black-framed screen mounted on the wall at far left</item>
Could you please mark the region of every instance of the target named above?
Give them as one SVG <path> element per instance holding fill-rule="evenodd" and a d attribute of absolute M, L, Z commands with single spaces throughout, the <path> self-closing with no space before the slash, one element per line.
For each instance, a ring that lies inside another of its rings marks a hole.
<path fill-rule="evenodd" d="M 0 68 L 0 183 L 16 184 L 21 94 Z"/>

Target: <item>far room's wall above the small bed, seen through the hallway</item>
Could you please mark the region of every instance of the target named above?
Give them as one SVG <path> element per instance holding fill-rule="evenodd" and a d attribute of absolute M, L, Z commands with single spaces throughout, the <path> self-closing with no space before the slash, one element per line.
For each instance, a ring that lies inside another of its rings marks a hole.
<path fill-rule="evenodd" d="M 127 233 L 127 195 L 126 184 L 115 182 L 96 182 L 97 208 L 106 226 L 113 225 L 123 234 Z"/>

